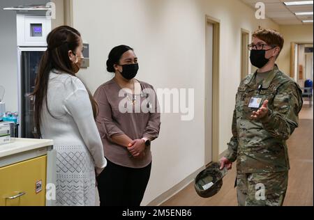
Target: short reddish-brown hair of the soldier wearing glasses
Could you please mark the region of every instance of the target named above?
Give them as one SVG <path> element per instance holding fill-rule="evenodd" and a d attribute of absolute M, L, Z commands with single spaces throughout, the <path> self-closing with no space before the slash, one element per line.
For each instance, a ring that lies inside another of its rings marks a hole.
<path fill-rule="evenodd" d="M 258 29 L 252 36 L 253 38 L 264 40 L 264 42 L 267 42 L 268 45 L 279 47 L 281 50 L 283 49 L 283 43 L 285 40 L 283 39 L 281 33 L 274 29 Z M 279 51 L 279 54 L 281 53 L 281 50 Z"/>

